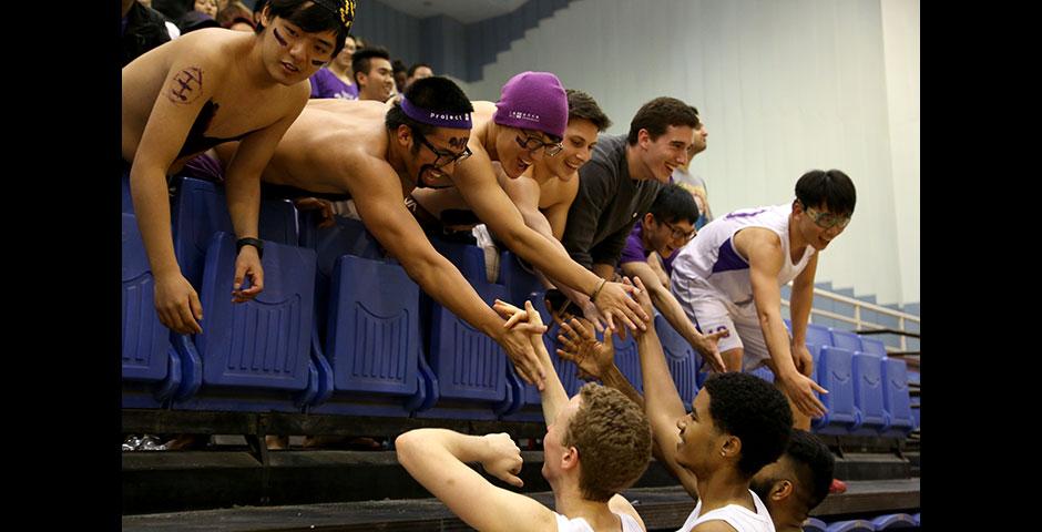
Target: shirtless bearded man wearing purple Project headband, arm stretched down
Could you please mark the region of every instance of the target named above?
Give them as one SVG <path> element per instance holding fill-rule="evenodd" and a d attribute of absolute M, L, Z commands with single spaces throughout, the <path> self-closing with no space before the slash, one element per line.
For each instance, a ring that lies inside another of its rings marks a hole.
<path fill-rule="evenodd" d="M 350 198 L 358 217 L 435 300 L 499 342 L 518 374 L 542 388 L 545 371 L 532 349 L 531 330 L 507 329 L 470 283 L 441 256 L 405 197 L 417 187 L 451 186 L 470 156 L 473 106 L 447 78 L 416 81 L 400 102 L 310 100 L 275 149 L 265 183 L 287 193 Z M 233 144 L 218 146 L 222 161 Z"/>

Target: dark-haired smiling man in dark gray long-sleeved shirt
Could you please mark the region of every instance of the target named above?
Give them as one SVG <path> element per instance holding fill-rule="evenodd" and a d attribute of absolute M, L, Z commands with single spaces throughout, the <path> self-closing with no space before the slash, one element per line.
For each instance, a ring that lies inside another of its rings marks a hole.
<path fill-rule="evenodd" d="M 602 278 L 614 277 L 634 222 L 647 212 L 673 171 L 687 162 L 698 125 L 691 105 L 661 96 L 636 112 L 629 135 L 601 135 L 593 157 L 579 170 L 579 194 L 561 241 L 573 260 Z M 589 296 L 568 287 L 561 290 L 586 317 L 599 318 Z"/>

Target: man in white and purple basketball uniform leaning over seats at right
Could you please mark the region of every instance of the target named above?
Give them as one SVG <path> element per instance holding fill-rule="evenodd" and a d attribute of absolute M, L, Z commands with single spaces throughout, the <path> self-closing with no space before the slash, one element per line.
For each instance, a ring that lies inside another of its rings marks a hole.
<path fill-rule="evenodd" d="M 825 415 L 810 378 L 807 321 L 818 252 L 839 236 L 857 194 L 838 170 L 807 172 L 791 205 L 735 211 L 708 223 L 673 260 L 672 290 L 703 334 L 726 331 L 719 350 L 728 371 L 766 365 L 788 397 L 794 426 L 809 430 Z M 793 336 L 782 321 L 782 285 L 793 282 Z"/>

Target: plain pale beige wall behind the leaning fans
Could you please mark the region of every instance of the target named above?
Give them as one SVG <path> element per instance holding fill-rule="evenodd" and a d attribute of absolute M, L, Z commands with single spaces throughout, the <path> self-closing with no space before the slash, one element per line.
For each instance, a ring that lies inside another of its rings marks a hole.
<path fill-rule="evenodd" d="M 715 213 L 787 203 L 810 168 L 858 186 L 854 222 L 818 280 L 919 300 L 919 4 L 913 0 L 578 0 L 466 86 L 494 101 L 511 75 L 556 73 L 624 133 L 652 98 L 695 106 L 692 163 Z"/>

